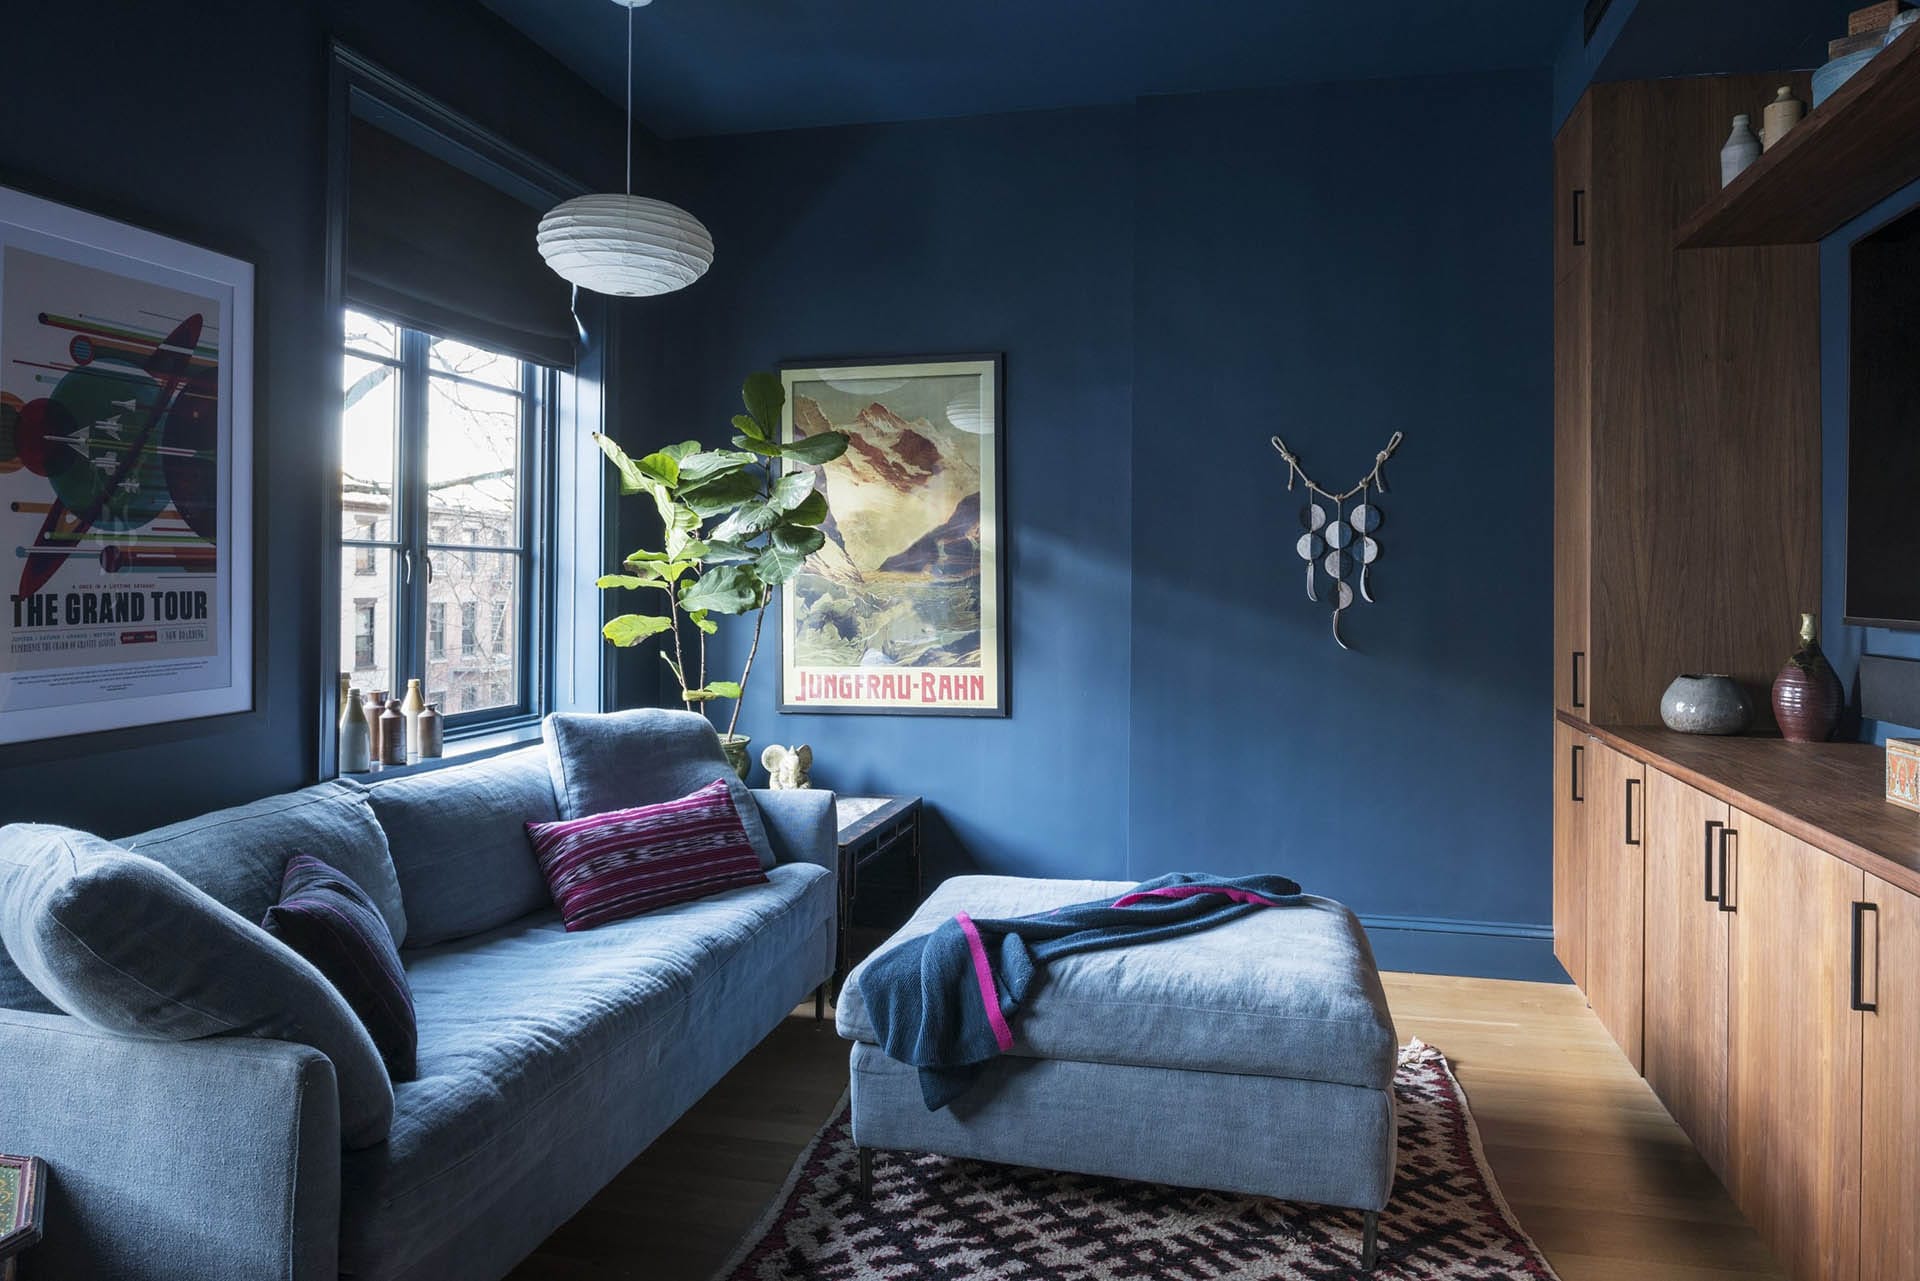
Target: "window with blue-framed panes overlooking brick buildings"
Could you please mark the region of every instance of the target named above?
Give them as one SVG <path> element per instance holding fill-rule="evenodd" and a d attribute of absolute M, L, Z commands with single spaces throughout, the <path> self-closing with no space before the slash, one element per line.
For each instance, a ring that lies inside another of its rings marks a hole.
<path fill-rule="evenodd" d="M 453 734 L 540 714 L 547 584 L 534 520 L 553 373 L 351 309 L 344 363 L 342 640 L 355 682 L 457 688 L 459 705 L 442 705 Z"/>

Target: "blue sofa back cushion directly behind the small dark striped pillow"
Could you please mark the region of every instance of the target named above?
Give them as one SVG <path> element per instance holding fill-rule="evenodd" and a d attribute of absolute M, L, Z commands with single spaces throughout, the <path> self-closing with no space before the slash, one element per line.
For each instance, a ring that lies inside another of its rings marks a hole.
<path fill-rule="evenodd" d="M 386 834 L 359 784 L 336 780 L 213 810 L 131 835 L 121 847 L 167 864 L 250 922 L 280 899 L 286 860 L 313 855 L 365 889 L 394 941 L 407 941 L 407 912 Z"/>

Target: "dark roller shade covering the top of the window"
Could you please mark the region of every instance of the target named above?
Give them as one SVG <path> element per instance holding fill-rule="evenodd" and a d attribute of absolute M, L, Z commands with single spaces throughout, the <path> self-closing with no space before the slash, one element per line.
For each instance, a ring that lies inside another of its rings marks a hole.
<path fill-rule="evenodd" d="M 572 369 L 572 292 L 534 244 L 541 213 L 355 115 L 348 300 L 430 334 Z"/>

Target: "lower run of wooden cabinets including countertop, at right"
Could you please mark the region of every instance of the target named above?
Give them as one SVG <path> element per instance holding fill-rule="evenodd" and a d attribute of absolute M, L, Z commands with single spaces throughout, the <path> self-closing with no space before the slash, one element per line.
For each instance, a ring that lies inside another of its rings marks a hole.
<path fill-rule="evenodd" d="M 1586 841 L 1594 1010 L 1793 1277 L 1920 1279 L 1920 824 L 1880 799 L 1880 751 L 1561 728 L 1555 749 L 1594 762 L 1584 828 L 1555 822 Z M 1638 910 L 1603 870 L 1617 835 L 1642 839 Z M 1638 1051 L 1617 960 L 1634 920 Z"/>

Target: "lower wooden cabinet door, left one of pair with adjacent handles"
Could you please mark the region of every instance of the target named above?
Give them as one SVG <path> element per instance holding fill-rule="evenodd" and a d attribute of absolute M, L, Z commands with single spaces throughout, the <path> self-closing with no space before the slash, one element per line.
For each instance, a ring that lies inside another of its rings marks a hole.
<path fill-rule="evenodd" d="M 1726 1177 L 1726 803 L 1647 770 L 1645 1077 Z"/>

